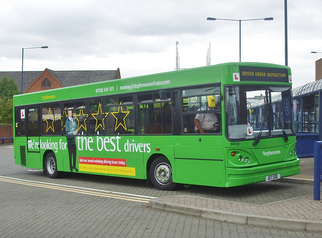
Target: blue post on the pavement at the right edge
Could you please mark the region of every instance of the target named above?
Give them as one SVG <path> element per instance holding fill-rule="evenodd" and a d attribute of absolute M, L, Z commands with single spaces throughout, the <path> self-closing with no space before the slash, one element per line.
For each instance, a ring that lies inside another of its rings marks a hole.
<path fill-rule="evenodd" d="M 320 200 L 320 183 L 321 183 L 321 149 L 322 141 L 314 141 L 314 186 L 313 199 Z"/>

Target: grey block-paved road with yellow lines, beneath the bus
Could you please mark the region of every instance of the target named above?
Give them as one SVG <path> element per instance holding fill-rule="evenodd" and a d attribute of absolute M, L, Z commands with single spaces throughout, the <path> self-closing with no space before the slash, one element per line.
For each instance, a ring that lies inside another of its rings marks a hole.
<path fill-rule="evenodd" d="M 42 171 L 14 164 L 13 148 L 0 147 L 0 237 L 320 237 L 318 233 L 268 229 L 162 212 L 150 197 L 193 195 L 274 202 L 294 192 L 293 184 L 260 183 L 234 189 L 191 186 L 158 191 L 145 181 L 70 174 L 48 179 Z M 90 189 L 89 189 L 90 188 Z M 274 194 L 276 196 L 269 196 Z"/>

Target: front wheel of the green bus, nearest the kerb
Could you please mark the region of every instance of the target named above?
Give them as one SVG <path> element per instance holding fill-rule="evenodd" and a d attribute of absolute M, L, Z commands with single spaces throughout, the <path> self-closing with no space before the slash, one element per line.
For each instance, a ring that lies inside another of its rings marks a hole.
<path fill-rule="evenodd" d="M 155 188 L 159 190 L 172 190 L 176 183 L 172 181 L 170 162 L 165 157 L 158 157 L 150 167 L 150 179 Z"/>

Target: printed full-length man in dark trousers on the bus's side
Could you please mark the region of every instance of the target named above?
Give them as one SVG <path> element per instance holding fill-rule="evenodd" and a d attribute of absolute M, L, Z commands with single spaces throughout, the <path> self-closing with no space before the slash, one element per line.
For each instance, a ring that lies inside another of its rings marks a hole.
<path fill-rule="evenodd" d="M 76 143 L 75 135 L 77 134 L 77 124 L 75 119 L 72 117 L 72 111 L 68 110 L 68 117 L 65 123 L 65 131 L 67 137 L 67 147 L 69 154 L 69 167 L 70 172 L 73 172 L 73 169 L 78 172 L 76 168 Z"/>

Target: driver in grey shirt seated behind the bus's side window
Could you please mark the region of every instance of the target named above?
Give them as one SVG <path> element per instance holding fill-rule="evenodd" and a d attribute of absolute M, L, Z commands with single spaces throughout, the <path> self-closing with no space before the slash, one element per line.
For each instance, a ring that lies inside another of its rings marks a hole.
<path fill-rule="evenodd" d="M 213 107 L 209 107 L 207 103 L 208 110 L 213 110 Z M 206 111 L 206 107 L 198 109 L 198 111 Z M 194 123 L 195 123 L 195 133 L 216 133 L 218 130 L 218 122 L 216 114 L 210 113 L 197 113 Z"/>

